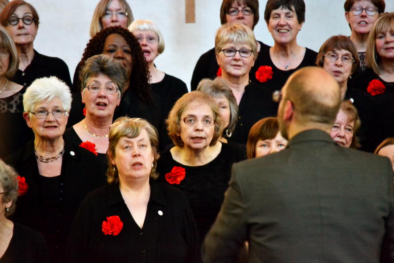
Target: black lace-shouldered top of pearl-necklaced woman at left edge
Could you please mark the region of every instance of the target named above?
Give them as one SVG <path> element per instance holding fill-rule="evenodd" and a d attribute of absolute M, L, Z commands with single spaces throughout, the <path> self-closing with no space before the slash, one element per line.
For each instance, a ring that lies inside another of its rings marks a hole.
<path fill-rule="evenodd" d="M 0 158 L 12 154 L 34 138 L 23 118 L 23 94 L 26 87 L 6 98 L 0 98 Z"/>

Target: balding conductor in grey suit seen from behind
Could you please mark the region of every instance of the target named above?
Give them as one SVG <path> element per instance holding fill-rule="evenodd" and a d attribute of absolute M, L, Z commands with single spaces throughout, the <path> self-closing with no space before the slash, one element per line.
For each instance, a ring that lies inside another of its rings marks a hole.
<path fill-rule="evenodd" d="M 233 165 L 221 211 L 204 241 L 205 263 L 394 261 L 393 169 L 388 158 L 337 146 L 335 79 L 295 72 L 282 88 L 285 150 Z"/>

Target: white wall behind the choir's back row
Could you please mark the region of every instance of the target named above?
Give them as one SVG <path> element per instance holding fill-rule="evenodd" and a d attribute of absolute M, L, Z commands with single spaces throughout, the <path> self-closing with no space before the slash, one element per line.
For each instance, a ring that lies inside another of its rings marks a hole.
<path fill-rule="evenodd" d="M 40 26 L 34 48 L 48 56 L 63 59 L 70 70 L 75 67 L 89 41 L 89 26 L 98 0 L 27 0 L 36 8 Z M 330 36 L 350 35 L 344 17 L 345 0 L 305 0 L 305 24 L 297 42 L 318 51 Z M 196 23 L 185 23 L 185 0 L 128 0 L 134 19 L 158 24 L 165 50 L 156 60 L 158 69 L 186 82 L 190 89 L 193 69 L 199 56 L 214 46 L 220 27 L 221 0 L 196 0 Z M 272 45 L 264 21 L 266 0 L 260 0 L 260 21 L 255 27 L 258 40 Z M 394 11 L 394 0 L 386 0 L 386 11 Z"/>

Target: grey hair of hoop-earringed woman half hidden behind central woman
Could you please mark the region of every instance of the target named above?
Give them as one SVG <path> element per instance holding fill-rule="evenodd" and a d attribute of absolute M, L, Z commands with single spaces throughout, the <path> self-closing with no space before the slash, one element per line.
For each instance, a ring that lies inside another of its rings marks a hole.
<path fill-rule="evenodd" d="M 237 101 L 230 89 L 230 86 L 221 78 L 215 78 L 211 80 L 209 78 L 202 79 L 197 86 L 197 90 L 204 92 L 212 98 L 223 98 L 225 97 L 229 101 L 230 105 L 230 121 L 227 128 L 229 132 L 232 132 L 237 124 L 238 119 L 238 105 Z"/>

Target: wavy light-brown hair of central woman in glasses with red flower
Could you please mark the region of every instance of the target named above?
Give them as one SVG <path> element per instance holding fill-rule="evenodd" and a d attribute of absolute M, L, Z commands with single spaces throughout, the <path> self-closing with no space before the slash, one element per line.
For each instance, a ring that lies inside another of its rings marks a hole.
<path fill-rule="evenodd" d="M 223 122 L 220 117 L 218 104 L 207 94 L 201 91 L 192 91 L 180 97 L 172 107 L 166 119 L 168 136 L 175 146 L 183 147 L 185 144 L 181 139 L 181 116 L 189 104 L 198 102 L 201 105 L 206 104 L 211 108 L 213 119 L 215 120 L 215 131 L 209 146 L 216 144 L 223 132 Z"/>

